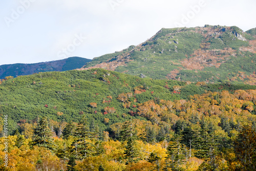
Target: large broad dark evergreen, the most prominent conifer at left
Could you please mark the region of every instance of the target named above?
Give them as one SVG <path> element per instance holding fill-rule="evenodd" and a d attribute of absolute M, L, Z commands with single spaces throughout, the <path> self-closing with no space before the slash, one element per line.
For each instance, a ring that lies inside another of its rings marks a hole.
<path fill-rule="evenodd" d="M 39 124 L 34 129 L 34 138 L 32 145 L 43 146 L 49 150 L 54 149 L 54 142 L 53 138 L 51 138 L 52 132 L 51 129 L 48 127 L 48 120 L 44 116 L 39 120 Z"/>

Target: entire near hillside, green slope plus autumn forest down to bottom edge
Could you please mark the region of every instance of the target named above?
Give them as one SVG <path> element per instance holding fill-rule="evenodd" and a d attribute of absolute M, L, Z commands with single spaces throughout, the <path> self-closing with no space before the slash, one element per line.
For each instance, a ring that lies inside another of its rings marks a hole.
<path fill-rule="evenodd" d="M 6 79 L 8 169 L 255 170 L 255 89 L 100 68 Z"/>

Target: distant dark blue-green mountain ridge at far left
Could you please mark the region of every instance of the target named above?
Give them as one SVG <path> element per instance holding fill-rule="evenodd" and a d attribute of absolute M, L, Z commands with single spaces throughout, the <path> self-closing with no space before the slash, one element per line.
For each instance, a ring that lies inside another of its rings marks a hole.
<path fill-rule="evenodd" d="M 0 65 L 0 79 L 4 79 L 8 76 L 17 77 L 31 75 L 37 72 L 72 70 L 80 68 L 90 61 L 91 59 L 70 57 L 57 61 L 40 62 L 33 64 L 16 63 Z"/>

